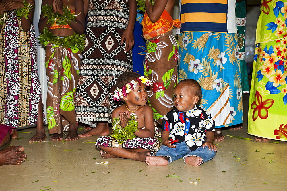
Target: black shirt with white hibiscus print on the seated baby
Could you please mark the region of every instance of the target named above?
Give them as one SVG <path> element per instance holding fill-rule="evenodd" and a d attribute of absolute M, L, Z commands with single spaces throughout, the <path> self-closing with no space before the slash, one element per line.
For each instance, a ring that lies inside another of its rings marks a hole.
<path fill-rule="evenodd" d="M 168 112 L 162 121 L 162 131 L 170 131 L 172 144 L 185 141 L 190 151 L 196 150 L 206 141 L 206 131 L 214 131 L 214 121 L 205 109 L 195 106 L 187 112 L 176 108 Z"/>

